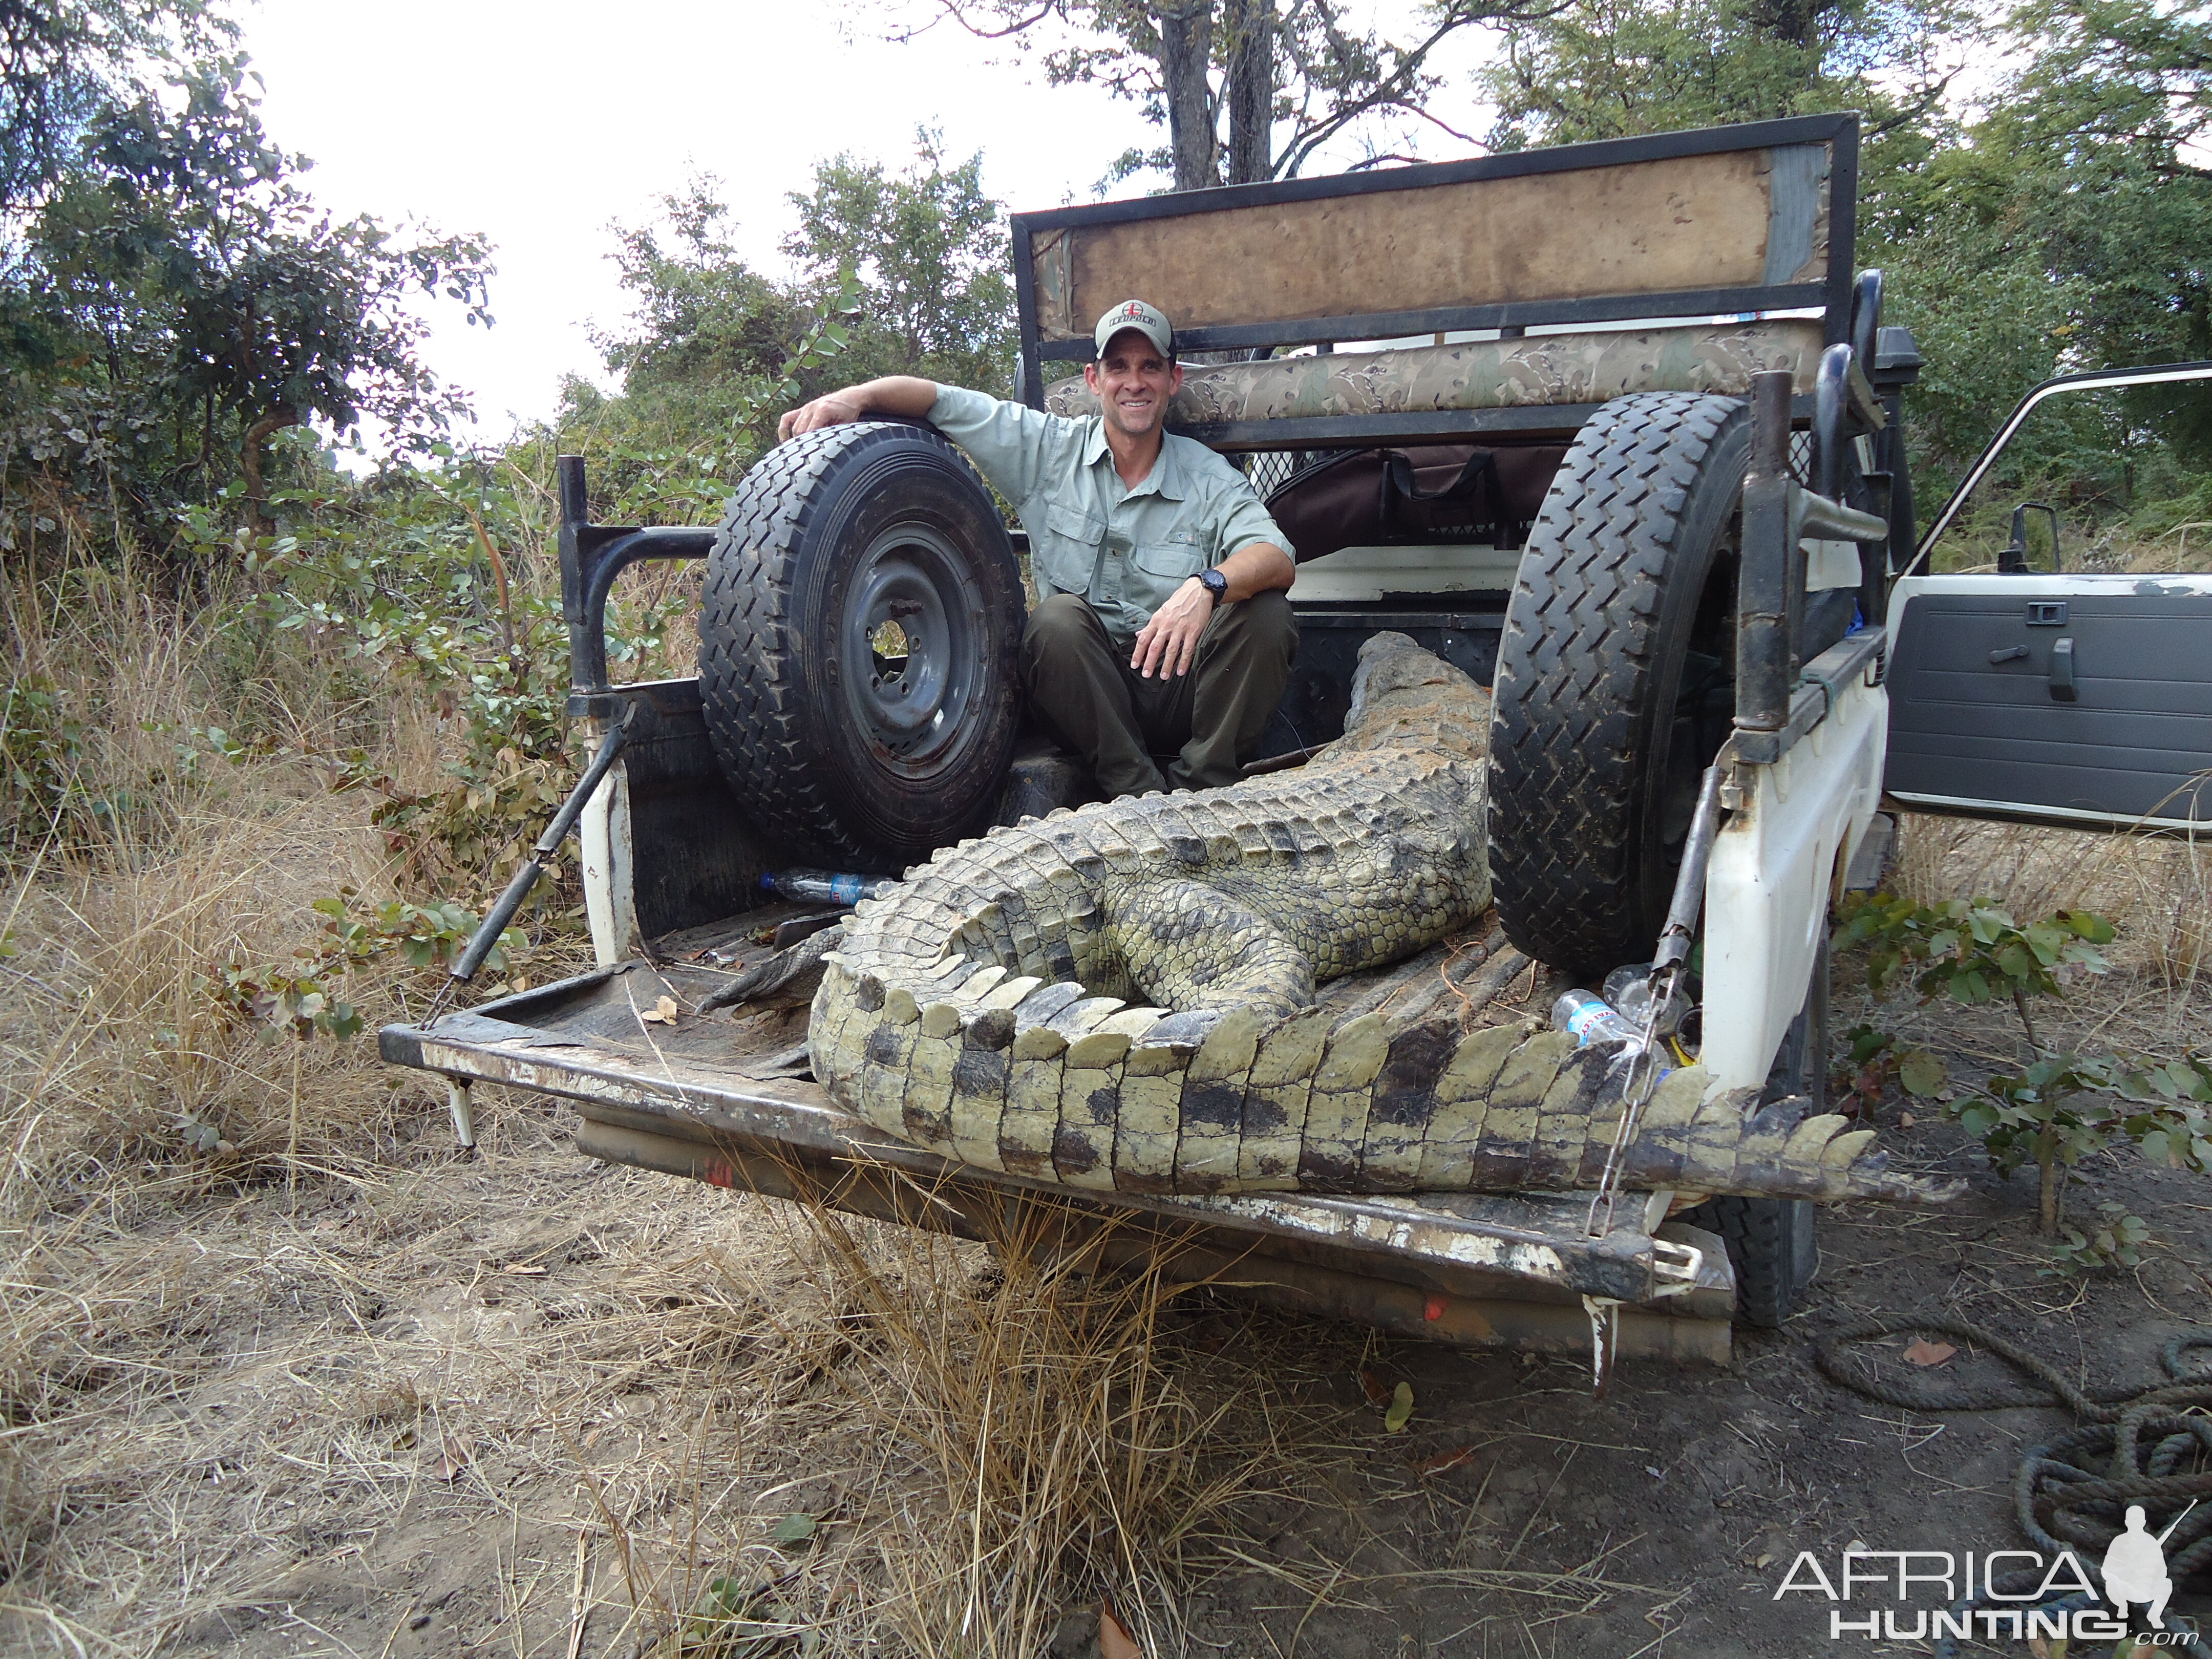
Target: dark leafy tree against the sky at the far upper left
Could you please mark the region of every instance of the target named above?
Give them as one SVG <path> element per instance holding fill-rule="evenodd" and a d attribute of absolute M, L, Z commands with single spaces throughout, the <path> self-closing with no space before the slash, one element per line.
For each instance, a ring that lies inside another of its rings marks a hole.
<path fill-rule="evenodd" d="M 0 270 L 11 493 L 35 478 L 113 491 L 166 546 L 184 502 L 237 487 L 268 533 L 276 434 L 374 420 L 420 451 L 467 409 L 422 363 L 409 301 L 489 323 L 482 239 L 319 208 L 310 164 L 263 131 L 243 58 L 88 97 Z"/>

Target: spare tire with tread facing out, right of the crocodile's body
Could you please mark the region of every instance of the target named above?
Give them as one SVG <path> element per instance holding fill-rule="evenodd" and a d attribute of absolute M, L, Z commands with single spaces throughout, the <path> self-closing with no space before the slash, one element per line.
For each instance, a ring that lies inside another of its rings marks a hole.
<path fill-rule="evenodd" d="M 1750 449 L 1741 398 L 1613 398 L 1528 533 L 1498 648 L 1491 883 L 1540 962 L 1604 973 L 1666 925 L 1734 710 Z"/>

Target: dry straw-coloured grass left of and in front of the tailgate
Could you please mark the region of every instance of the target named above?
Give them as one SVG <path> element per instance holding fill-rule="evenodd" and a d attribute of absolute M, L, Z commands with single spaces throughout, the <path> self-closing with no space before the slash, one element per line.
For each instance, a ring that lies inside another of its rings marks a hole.
<path fill-rule="evenodd" d="M 427 699 L 319 706 L 312 641 L 226 679 L 195 615 L 71 584 L 9 597 L 9 668 L 73 688 L 75 781 L 131 805 L 0 887 L 0 1644 L 389 1655 L 429 1613 L 712 1652 L 750 1608 L 823 1655 L 1033 1655 L 1113 1593 L 1175 1650 L 1292 1420 L 1250 1356 L 1161 1340 L 1179 1287 L 580 1166 L 495 1091 L 460 1159 L 369 1040 L 237 1029 L 215 964 L 396 891 L 325 757 L 367 728 L 422 783 L 447 734 Z M 279 752 L 179 768 L 212 726 Z M 374 1022 L 425 984 L 349 991 Z M 785 1513 L 814 1540 L 776 1546 Z"/>

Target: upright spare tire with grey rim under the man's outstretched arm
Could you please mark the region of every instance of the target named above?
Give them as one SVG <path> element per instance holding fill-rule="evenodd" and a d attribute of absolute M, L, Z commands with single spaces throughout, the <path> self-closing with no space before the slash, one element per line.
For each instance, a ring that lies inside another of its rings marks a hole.
<path fill-rule="evenodd" d="M 810 431 L 745 473 L 708 553 L 708 737 L 790 852 L 896 872 L 991 816 L 1020 635 L 1013 542 L 945 438 Z"/>

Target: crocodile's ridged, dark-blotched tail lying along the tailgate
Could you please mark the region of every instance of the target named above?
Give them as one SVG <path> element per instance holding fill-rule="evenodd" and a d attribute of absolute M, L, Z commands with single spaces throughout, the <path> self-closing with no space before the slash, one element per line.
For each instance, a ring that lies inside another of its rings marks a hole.
<path fill-rule="evenodd" d="M 1119 1192 L 1595 1188 L 1621 1079 L 1533 1020 L 1161 1013 L 947 958 L 823 958 L 814 1075 L 878 1130 L 989 1170 Z M 1871 1130 L 1670 1073 L 1621 1148 L 1630 1190 L 1942 1201 Z"/>

